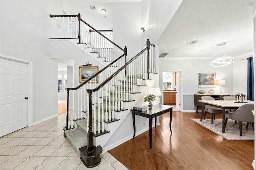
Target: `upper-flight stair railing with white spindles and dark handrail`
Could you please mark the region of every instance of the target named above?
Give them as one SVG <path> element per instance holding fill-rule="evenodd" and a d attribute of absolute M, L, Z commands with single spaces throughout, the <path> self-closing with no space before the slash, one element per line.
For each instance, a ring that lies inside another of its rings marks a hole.
<path fill-rule="evenodd" d="M 50 39 L 78 38 L 78 43 L 84 44 L 84 48 L 92 49 L 91 53 L 98 53 L 98 57 L 104 57 L 104 62 L 117 59 L 124 49 L 116 45 L 112 30 L 96 30 L 78 15 L 50 15 L 51 33 Z"/>

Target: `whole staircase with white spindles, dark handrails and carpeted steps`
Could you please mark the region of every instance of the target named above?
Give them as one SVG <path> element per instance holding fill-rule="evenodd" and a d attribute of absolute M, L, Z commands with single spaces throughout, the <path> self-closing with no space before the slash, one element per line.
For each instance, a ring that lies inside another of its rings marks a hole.
<path fill-rule="evenodd" d="M 93 27 L 88 26 L 80 19 L 80 14 L 51 16 L 51 18 L 58 17 L 65 17 L 71 22 L 67 25 L 76 25 L 75 18 L 77 18 L 78 28 L 90 27 L 93 29 L 93 31 L 88 28 L 85 28 L 86 31 L 78 29 L 78 46 L 82 48 L 81 44 L 85 45 L 85 49 L 91 49 L 90 53 L 96 53 L 98 58 L 104 58 L 103 62 L 107 63 L 103 69 L 78 87 L 67 88 L 68 111 L 66 126 L 63 128 L 64 136 L 80 155 L 84 165 L 94 167 L 100 163 L 102 148 L 106 149 L 104 146 L 117 133 L 132 106 L 136 106 L 138 101 L 143 98 L 142 95 L 147 90 L 148 81 L 154 81 L 155 45 L 148 40 L 146 47 L 126 62 L 126 47 L 124 50 L 121 49 Z M 81 21 L 84 23 L 83 26 L 80 25 Z M 57 25 L 56 29 L 59 29 L 58 22 L 54 25 Z M 73 33 L 73 31 L 76 32 L 75 30 L 68 32 Z M 90 33 L 94 33 L 94 35 Z M 84 38 L 81 39 L 81 36 Z M 93 41 L 92 36 L 94 37 Z M 73 38 L 75 37 L 68 37 L 68 39 Z M 105 40 L 102 40 L 103 38 Z M 107 40 L 110 43 L 106 42 Z M 100 57 L 103 54 L 104 57 Z M 151 77 L 153 80 L 150 80 Z"/>

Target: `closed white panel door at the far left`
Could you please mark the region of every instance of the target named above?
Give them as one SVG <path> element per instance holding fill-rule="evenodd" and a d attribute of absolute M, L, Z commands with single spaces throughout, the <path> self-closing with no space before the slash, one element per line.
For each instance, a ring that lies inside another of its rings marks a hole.
<path fill-rule="evenodd" d="M 0 137 L 28 125 L 28 64 L 0 59 Z"/>

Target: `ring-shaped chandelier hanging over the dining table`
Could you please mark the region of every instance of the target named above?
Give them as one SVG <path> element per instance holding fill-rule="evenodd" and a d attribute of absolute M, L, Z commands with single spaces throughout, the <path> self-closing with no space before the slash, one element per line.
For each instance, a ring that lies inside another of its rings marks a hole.
<path fill-rule="evenodd" d="M 224 47 L 226 43 L 227 42 L 221 42 L 216 44 L 216 46 L 218 47 L 218 52 L 216 56 L 213 58 L 212 62 L 210 63 L 210 66 L 223 67 L 233 63 L 234 59 L 233 57 L 231 57 L 230 53 L 228 53 L 228 55 L 226 54 L 225 47 Z"/>

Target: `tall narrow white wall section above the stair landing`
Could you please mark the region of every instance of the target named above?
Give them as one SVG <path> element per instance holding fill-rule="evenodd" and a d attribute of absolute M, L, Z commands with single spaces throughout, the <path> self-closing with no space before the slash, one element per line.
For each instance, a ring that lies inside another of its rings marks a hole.
<path fill-rule="evenodd" d="M 113 2 L 113 41 L 127 47 L 127 61 L 142 50 L 140 9 L 140 2 Z"/>

